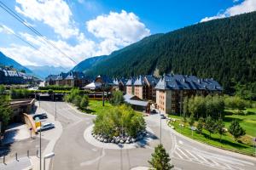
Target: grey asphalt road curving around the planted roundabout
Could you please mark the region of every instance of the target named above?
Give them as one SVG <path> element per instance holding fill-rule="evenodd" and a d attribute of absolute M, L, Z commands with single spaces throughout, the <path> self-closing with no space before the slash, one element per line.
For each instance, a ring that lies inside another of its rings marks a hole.
<path fill-rule="evenodd" d="M 44 111 L 55 115 L 55 103 L 41 101 Z M 129 150 L 108 150 L 89 144 L 84 139 L 84 130 L 92 124 L 95 116 L 79 114 L 64 102 L 57 102 L 57 121 L 63 132 L 55 144 L 55 158 L 51 169 L 131 169 L 147 167 L 154 146 L 160 143 L 160 117 L 146 117 L 157 139 L 144 147 Z M 241 156 L 224 150 L 199 144 L 177 134 L 162 120 L 161 141 L 172 157 L 175 169 L 237 169 L 253 170 L 256 158 Z"/>

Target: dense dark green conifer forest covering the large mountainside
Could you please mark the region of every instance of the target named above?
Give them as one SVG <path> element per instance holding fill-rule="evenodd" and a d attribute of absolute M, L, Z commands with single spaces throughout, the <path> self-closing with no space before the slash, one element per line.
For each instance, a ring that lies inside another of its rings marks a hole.
<path fill-rule="evenodd" d="M 85 73 L 130 77 L 154 70 L 213 77 L 225 93 L 256 96 L 256 12 L 145 37 Z"/>

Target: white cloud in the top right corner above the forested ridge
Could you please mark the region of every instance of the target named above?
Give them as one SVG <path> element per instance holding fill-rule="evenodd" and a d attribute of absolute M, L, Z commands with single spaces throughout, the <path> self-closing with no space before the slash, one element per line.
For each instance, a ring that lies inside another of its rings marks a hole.
<path fill-rule="evenodd" d="M 234 1 L 237 3 L 237 0 Z M 205 22 L 208 20 L 221 19 L 224 17 L 234 16 L 236 14 L 249 13 L 256 10 L 256 0 L 244 0 L 242 3 L 236 4 L 233 7 L 227 8 L 223 13 L 218 13 L 212 17 L 206 17 L 201 20 L 201 22 Z"/>

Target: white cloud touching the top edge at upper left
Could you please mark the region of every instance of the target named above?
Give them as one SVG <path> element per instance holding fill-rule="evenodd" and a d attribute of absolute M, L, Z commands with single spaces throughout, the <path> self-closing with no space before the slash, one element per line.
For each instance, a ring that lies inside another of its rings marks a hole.
<path fill-rule="evenodd" d="M 63 38 L 79 35 L 72 12 L 63 0 L 16 0 L 15 10 L 31 20 L 43 21 Z"/>

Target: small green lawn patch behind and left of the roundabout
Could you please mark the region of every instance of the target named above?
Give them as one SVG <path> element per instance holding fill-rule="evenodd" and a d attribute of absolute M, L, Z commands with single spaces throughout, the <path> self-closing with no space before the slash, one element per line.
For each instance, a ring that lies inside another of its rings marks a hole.
<path fill-rule="evenodd" d="M 89 100 L 89 106 L 86 113 L 90 114 L 97 114 L 102 111 L 108 111 L 109 109 L 113 108 L 113 105 L 111 105 L 108 101 L 105 101 L 105 106 L 102 106 L 102 100 Z"/>

